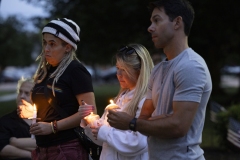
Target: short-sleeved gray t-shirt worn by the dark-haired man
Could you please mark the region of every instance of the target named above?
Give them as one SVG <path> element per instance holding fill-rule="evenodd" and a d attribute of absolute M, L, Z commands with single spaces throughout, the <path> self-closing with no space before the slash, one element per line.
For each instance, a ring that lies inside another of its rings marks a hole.
<path fill-rule="evenodd" d="M 155 107 L 152 116 L 172 114 L 173 101 L 198 102 L 193 123 L 184 137 L 173 139 L 148 138 L 150 159 L 195 160 L 204 159 L 202 130 L 212 81 L 204 59 L 191 48 L 170 61 L 155 66 L 148 84 L 147 99 Z"/>

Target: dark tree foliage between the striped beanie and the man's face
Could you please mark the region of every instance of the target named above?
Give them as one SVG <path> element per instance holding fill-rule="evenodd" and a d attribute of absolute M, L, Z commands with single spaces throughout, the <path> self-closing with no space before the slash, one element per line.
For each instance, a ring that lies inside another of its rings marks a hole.
<path fill-rule="evenodd" d="M 53 0 L 51 18 L 73 19 L 81 28 L 78 57 L 93 65 L 111 64 L 120 45 L 152 46 L 147 33 L 149 13 L 144 0 Z"/>

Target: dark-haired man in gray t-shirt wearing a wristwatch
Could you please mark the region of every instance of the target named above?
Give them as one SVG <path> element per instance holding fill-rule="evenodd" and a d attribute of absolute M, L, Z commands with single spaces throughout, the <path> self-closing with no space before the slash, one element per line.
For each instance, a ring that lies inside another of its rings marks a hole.
<path fill-rule="evenodd" d="M 150 10 L 148 31 L 167 58 L 151 73 L 139 118 L 109 111 L 109 124 L 148 135 L 150 160 L 203 160 L 199 144 L 212 81 L 204 59 L 188 46 L 194 10 L 187 0 L 159 0 Z"/>

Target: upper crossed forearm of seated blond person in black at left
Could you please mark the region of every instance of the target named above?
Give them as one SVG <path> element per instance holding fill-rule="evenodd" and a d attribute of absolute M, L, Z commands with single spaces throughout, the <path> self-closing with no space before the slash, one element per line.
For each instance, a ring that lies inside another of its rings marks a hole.
<path fill-rule="evenodd" d="M 32 138 L 11 138 L 10 139 L 10 145 L 15 146 L 19 149 L 32 151 L 34 150 L 36 145 L 36 140 Z"/>

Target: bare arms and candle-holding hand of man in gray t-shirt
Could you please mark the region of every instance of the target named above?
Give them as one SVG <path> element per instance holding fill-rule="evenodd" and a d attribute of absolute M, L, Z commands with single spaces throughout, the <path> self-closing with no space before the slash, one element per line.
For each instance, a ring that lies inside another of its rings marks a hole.
<path fill-rule="evenodd" d="M 159 115 L 147 119 L 152 113 L 153 106 L 151 104 L 151 102 L 144 103 L 141 118 L 139 117 L 136 122 L 136 130 L 144 135 L 158 138 L 184 136 L 192 124 L 199 105 L 196 102 L 173 102 L 173 114 Z M 109 110 L 108 118 L 112 127 L 127 130 L 133 117 L 125 112 Z"/>

